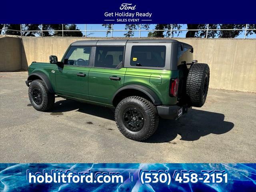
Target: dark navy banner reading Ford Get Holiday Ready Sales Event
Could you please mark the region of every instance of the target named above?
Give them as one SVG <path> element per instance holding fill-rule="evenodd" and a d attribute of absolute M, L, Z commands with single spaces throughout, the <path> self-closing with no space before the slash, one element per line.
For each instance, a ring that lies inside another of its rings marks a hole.
<path fill-rule="evenodd" d="M 0 23 L 255 24 L 256 2 L 115 0 L 1 2 Z"/>

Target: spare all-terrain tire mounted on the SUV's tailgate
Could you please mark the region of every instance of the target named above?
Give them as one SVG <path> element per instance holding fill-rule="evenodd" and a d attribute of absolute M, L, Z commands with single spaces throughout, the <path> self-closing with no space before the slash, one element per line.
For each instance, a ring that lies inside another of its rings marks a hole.
<path fill-rule="evenodd" d="M 206 100 L 210 80 L 210 68 L 204 63 L 194 63 L 188 72 L 186 94 L 191 106 L 202 107 Z"/>

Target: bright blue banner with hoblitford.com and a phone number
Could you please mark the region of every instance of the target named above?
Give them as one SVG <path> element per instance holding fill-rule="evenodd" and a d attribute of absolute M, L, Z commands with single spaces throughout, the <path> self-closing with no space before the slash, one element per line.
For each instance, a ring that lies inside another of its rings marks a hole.
<path fill-rule="evenodd" d="M 256 191 L 256 164 L 0 164 L 0 191 Z"/>

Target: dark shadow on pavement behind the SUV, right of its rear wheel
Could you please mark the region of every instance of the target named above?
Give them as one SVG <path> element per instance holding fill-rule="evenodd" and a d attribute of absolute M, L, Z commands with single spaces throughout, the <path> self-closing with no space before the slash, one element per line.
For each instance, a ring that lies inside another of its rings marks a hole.
<path fill-rule="evenodd" d="M 229 132 L 234 124 L 224 121 L 224 114 L 191 109 L 179 120 L 160 119 L 156 132 L 144 142 L 171 142 L 177 135 L 180 140 L 194 141 L 208 134 L 224 134 Z M 172 142 L 176 144 L 175 142 Z"/>

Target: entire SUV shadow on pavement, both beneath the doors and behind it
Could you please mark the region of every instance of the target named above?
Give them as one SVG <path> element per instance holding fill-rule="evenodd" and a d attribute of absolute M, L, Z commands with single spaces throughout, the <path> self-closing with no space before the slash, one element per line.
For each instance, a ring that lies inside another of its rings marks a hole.
<path fill-rule="evenodd" d="M 72 110 L 114 121 L 114 110 L 73 100 L 57 101 L 54 109 L 49 112 L 52 115 L 59 115 Z M 194 141 L 208 134 L 224 134 L 234 127 L 232 122 L 224 121 L 224 117 L 224 114 L 220 113 L 191 109 L 179 120 L 160 119 L 156 132 L 143 142 L 171 142 L 178 135 L 181 136 L 180 140 Z"/>

